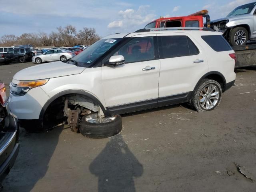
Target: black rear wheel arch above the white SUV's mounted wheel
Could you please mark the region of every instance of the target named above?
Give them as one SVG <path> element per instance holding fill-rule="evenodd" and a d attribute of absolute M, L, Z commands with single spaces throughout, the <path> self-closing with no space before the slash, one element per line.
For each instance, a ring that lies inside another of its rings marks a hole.
<path fill-rule="evenodd" d="M 200 82 L 203 80 L 203 79 L 212 79 L 212 80 L 215 80 L 217 81 L 218 83 L 220 83 L 221 85 L 221 88 L 222 88 L 222 92 L 224 92 L 226 90 L 226 79 L 224 77 L 223 74 L 221 74 L 220 72 L 218 71 L 211 71 L 211 72 L 208 72 L 206 74 L 204 74 L 204 76 L 202 76 L 200 78 L 200 80 L 197 82 L 196 86 L 194 87 L 194 90 L 196 90 L 197 86 L 200 84 Z M 194 91 L 193 90 L 193 91 Z"/>

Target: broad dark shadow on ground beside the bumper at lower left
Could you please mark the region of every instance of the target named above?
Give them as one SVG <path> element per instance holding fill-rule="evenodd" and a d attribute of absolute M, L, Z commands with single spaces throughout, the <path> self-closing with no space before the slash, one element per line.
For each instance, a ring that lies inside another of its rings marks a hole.
<path fill-rule="evenodd" d="M 1 192 L 28 192 L 34 188 L 48 171 L 62 130 L 60 126 L 49 132 L 27 133 L 20 128 L 20 151 Z"/>

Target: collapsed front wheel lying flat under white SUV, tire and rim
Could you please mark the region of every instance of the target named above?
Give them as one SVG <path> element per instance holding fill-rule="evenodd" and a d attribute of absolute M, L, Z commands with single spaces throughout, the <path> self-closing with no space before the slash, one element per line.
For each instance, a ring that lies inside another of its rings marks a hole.
<path fill-rule="evenodd" d="M 88 138 L 107 138 L 118 134 L 122 130 L 120 115 L 98 118 L 98 113 L 91 113 L 82 117 L 80 133 Z"/>

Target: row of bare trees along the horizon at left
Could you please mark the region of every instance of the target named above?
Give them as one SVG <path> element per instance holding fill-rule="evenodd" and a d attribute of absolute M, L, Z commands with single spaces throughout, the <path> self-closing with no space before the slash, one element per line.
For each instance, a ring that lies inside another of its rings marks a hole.
<path fill-rule="evenodd" d="M 56 46 L 68 47 L 75 45 L 91 45 L 100 40 L 100 36 L 94 28 L 84 27 L 77 31 L 75 26 L 67 25 L 65 27 L 57 27 L 57 31 L 50 34 L 45 32 L 24 33 L 21 36 L 4 35 L 0 38 L 0 46 L 16 46 L 32 44 L 37 46 Z"/>

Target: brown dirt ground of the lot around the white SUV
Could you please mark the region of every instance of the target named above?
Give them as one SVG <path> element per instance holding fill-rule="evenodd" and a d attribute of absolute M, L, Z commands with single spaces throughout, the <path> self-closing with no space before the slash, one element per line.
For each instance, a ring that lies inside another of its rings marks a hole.
<path fill-rule="evenodd" d="M 0 79 L 8 84 L 32 65 L 0 66 Z M 182 104 L 125 114 L 122 132 L 112 138 L 21 128 L 3 191 L 256 191 L 256 68 L 236 75 L 218 109 L 195 112 Z"/>

